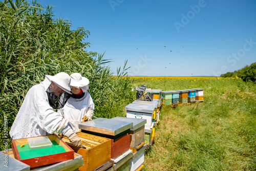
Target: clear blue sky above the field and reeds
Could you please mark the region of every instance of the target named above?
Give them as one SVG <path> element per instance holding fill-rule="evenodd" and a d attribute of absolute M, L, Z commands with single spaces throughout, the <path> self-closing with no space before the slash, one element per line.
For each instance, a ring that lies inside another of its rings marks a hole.
<path fill-rule="evenodd" d="M 256 1 L 66 1 L 52 5 L 72 29 L 91 32 L 88 51 L 104 53 L 115 73 L 220 76 L 256 62 Z"/>

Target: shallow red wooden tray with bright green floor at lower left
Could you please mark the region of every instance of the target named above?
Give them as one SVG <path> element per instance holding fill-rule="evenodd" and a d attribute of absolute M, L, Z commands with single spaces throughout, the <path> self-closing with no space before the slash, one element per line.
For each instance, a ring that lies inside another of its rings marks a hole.
<path fill-rule="evenodd" d="M 74 150 L 56 135 L 47 136 L 52 147 L 29 149 L 28 138 L 12 140 L 15 159 L 30 165 L 30 168 L 74 159 Z M 20 145 L 25 146 L 20 147 Z"/>

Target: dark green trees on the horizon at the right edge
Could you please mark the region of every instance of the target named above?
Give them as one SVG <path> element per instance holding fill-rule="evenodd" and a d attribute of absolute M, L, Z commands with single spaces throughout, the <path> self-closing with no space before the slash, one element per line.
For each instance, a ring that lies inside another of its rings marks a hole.
<path fill-rule="evenodd" d="M 221 74 L 221 77 L 235 77 L 243 79 L 243 81 L 252 81 L 256 82 L 256 62 L 251 63 L 250 66 L 245 66 L 244 68 L 234 71 L 227 72 L 226 74 Z"/>

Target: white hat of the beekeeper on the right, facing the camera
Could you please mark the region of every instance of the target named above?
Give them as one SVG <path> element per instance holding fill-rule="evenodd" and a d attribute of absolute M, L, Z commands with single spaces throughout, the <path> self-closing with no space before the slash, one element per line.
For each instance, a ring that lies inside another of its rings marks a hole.
<path fill-rule="evenodd" d="M 70 77 L 70 86 L 80 88 L 83 90 L 83 92 L 89 89 L 89 79 L 87 79 L 86 77 L 82 77 L 79 73 L 73 73 L 70 75 Z"/>

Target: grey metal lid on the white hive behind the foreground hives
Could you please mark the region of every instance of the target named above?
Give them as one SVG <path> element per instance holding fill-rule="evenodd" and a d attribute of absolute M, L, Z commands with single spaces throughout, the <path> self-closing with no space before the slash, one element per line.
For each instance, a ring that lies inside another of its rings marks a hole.
<path fill-rule="evenodd" d="M 130 103 L 125 106 L 125 111 L 141 112 L 153 114 L 155 110 L 155 105 L 150 104 L 136 104 Z"/>

